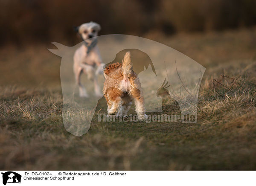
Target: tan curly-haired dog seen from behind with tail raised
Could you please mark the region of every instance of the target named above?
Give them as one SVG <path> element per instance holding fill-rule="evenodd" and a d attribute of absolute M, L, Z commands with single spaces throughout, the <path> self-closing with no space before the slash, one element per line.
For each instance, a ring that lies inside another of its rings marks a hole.
<path fill-rule="evenodd" d="M 108 103 L 108 115 L 127 116 L 132 100 L 139 118 L 145 114 L 143 92 L 140 80 L 133 71 L 130 52 L 126 52 L 121 63 L 113 63 L 104 69 L 103 94 Z"/>

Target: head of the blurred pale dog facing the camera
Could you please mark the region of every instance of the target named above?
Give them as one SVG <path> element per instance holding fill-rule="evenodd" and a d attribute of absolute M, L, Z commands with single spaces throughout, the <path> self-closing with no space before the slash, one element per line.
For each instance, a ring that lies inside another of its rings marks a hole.
<path fill-rule="evenodd" d="M 81 24 L 77 30 L 83 40 L 88 39 L 87 41 L 93 41 L 94 37 L 98 35 L 98 32 L 100 31 L 101 27 L 98 23 L 90 22 L 90 23 L 84 23 Z"/>

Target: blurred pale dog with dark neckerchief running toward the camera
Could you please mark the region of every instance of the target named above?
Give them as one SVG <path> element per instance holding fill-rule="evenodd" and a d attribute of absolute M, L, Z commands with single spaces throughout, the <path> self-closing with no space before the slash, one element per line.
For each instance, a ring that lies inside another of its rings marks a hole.
<path fill-rule="evenodd" d="M 97 75 L 103 73 L 104 66 L 99 49 L 96 46 L 96 36 L 100 29 L 101 27 L 99 24 L 94 22 L 84 23 L 76 27 L 76 31 L 81 35 L 81 38 L 84 41 L 84 44 L 75 52 L 73 66 L 76 84 L 79 86 L 80 97 L 88 97 L 85 87 L 81 84 L 81 73 L 87 74 L 87 77 L 94 81 L 94 91 L 96 96 L 103 96 L 97 81 Z"/>

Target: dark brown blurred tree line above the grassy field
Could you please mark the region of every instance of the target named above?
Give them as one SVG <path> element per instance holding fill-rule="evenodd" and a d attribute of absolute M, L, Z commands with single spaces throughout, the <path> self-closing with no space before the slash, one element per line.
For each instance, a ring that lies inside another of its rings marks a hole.
<path fill-rule="evenodd" d="M 72 27 L 100 35 L 203 32 L 256 24 L 256 0 L 0 0 L 1 44 L 76 44 Z"/>

